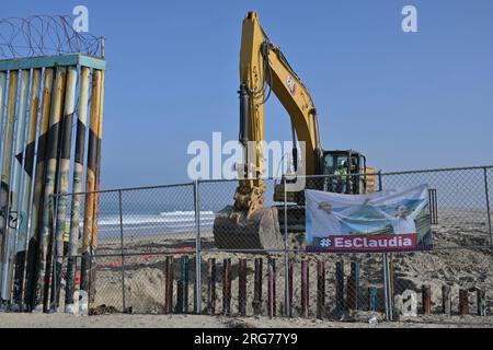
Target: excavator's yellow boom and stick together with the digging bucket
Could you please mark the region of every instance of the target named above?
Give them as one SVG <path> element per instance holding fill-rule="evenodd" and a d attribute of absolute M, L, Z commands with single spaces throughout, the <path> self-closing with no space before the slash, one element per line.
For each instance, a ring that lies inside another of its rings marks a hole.
<path fill-rule="evenodd" d="M 322 151 L 311 96 L 280 49 L 262 30 L 255 12 L 248 13 L 243 21 L 240 79 L 239 138 L 245 164 L 234 192 L 234 206 L 216 215 L 214 238 L 219 248 L 278 249 L 284 241 L 277 209 L 264 207 L 262 179 L 265 103 L 272 92 L 289 114 L 298 141 L 305 142 L 302 161 L 307 174 L 318 172 Z"/>

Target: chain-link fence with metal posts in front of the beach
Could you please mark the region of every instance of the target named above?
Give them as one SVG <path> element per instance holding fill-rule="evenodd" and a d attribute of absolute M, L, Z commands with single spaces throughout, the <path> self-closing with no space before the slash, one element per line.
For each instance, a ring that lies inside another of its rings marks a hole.
<path fill-rule="evenodd" d="M 261 242 L 249 238 L 246 230 L 215 235 L 238 182 L 102 191 L 91 313 L 365 322 L 406 318 L 402 310 L 416 312 L 419 317 L 410 319 L 421 322 L 492 315 L 493 167 L 306 182 L 307 188 L 340 192 L 427 184 L 433 250 L 308 253 L 302 197 L 284 192 L 282 180 L 265 180 L 264 207 L 275 209 L 266 209 L 266 226 L 256 228 Z M 267 228 L 272 223 L 277 236 Z"/>

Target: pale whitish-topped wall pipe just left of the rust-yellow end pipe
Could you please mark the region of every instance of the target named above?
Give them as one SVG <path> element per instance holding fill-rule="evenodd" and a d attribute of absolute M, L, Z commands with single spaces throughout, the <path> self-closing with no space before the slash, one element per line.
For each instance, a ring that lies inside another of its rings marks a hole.
<path fill-rule="evenodd" d="M 73 293 L 76 292 L 76 256 L 79 253 L 79 231 L 82 211 L 83 171 L 84 171 L 84 147 L 88 120 L 89 83 L 91 71 L 87 67 L 81 68 L 79 88 L 79 108 L 76 131 L 76 153 L 73 158 L 73 180 L 72 180 L 72 205 L 70 209 L 70 240 L 67 261 L 67 288 L 65 293 L 65 312 L 72 314 Z M 121 191 L 118 192 L 121 196 Z M 68 196 L 68 195 L 67 195 Z M 60 196 L 67 197 L 67 196 Z M 122 228 L 121 228 L 122 229 Z M 123 258 L 123 256 L 122 256 Z"/>

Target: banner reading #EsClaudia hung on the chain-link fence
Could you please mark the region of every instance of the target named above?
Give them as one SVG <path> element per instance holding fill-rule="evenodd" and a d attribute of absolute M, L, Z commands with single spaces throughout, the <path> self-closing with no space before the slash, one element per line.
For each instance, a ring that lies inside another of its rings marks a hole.
<path fill-rule="evenodd" d="M 369 195 L 305 191 L 309 252 L 433 249 L 428 186 Z"/>

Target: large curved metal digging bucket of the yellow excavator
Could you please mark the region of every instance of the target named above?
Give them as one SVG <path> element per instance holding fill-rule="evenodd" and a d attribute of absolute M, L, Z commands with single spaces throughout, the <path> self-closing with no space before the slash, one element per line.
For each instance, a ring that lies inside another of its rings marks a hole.
<path fill-rule="evenodd" d="M 214 221 L 214 241 L 219 249 L 283 249 L 277 208 L 261 208 L 250 217 L 225 208 Z"/>

